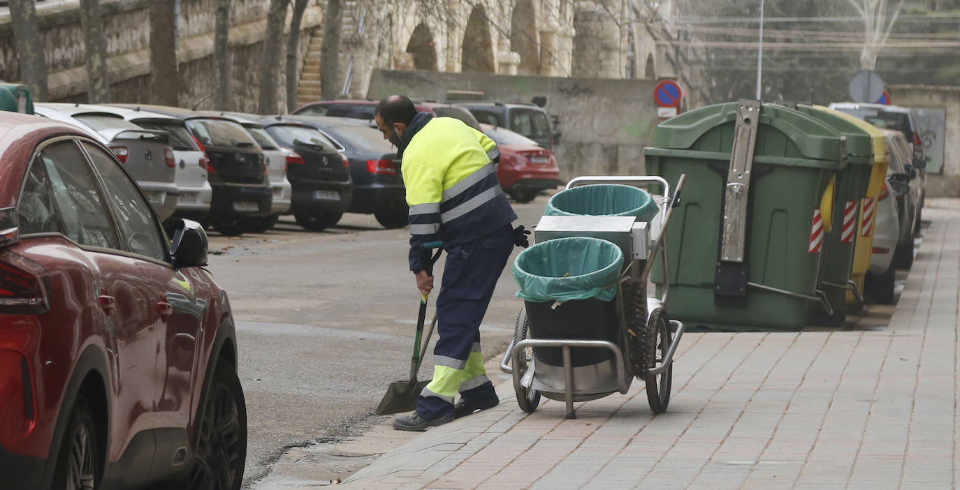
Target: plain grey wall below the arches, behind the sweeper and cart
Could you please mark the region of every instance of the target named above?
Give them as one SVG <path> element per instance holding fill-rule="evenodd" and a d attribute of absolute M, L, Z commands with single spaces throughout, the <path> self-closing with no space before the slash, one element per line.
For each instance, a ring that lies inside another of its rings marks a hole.
<path fill-rule="evenodd" d="M 577 175 L 643 175 L 643 147 L 654 141 L 656 81 L 508 77 L 375 70 L 368 98 L 404 94 L 417 100 L 446 100 L 447 90 L 476 90 L 488 100 L 544 106 L 555 130 L 555 149 L 566 180 Z"/>

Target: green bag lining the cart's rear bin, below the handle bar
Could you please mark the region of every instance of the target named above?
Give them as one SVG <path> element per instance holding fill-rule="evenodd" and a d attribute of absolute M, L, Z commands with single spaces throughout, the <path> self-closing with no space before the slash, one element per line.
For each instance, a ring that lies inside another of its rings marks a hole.
<path fill-rule="evenodd" d="M 546 202 L 547 216 L 636 216 L 650 222 L 657 203 L 643 189 L 622 184 L 593 184 L 566 189 Z"/>

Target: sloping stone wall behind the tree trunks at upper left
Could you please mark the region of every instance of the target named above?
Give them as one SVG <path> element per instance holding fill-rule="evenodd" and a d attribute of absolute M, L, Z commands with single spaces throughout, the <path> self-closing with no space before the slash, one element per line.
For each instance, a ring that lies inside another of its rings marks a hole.
<path fill-rule="evenodd" d="M 171 0 L 172 1 L 172 0 Z M 233 0 L 230 8 L 229 53 L 231 107 L 256 108 L 260 49 L 266 31 L 269 0 Z M 181 0 L 178 24 L 180 105 L 212 108 L 214 0 Z M 147 0 L 101 0 L 108 42 L 110 97 L 114 102 L 149 100 L 150 22 Z M 289 10 L 288 21 L 289 26 Z M 37 10 L 48 66 L 50 101 L 86 102 L 84 37 L 78 3 Z M 305 53 L 310 32 L 323 22 L 323 11 L 307 9 L 301 24 L 300 54 Z M 289 29 L 289 28 L 288 28 Z M 285 46 L 285 44 L 284 44 Z M 0 16 L 0 80 L 19 79 L 10 18 Z M 280 61 L 279 104 L 285 107 L 285 74 Z"/>

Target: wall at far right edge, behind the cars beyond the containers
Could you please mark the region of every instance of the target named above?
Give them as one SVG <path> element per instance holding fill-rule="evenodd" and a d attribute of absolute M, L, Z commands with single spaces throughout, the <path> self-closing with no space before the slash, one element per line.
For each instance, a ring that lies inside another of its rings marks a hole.
<path fill-rule="evenodd" d="M 960 86 L 891 85 L 897 105 L 944 107 L 944 166 L 940 175 L 926 175 L 926 195 L 960 197 Z"/>

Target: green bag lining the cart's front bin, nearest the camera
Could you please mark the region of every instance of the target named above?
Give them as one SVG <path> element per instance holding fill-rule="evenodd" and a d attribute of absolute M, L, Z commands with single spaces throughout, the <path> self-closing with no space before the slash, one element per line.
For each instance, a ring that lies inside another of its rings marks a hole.
<path fill-rule="evenodd" d="M 533 245 L 516 256 L 516 297 L 527 301 L 570 301 L 616 294 L 623 252 L 599 238 L 569 237 Z M 564 277 L 565 276 L 565 277 Z"/>

